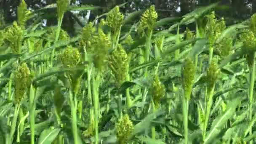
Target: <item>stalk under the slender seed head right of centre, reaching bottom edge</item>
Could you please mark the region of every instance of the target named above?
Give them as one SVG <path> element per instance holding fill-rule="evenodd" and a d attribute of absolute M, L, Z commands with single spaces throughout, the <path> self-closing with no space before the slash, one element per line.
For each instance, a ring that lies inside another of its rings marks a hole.
<path fill-rule="evenodd" d="M 185 144 L 188 144 L 189 129 L 188 129 L 188 111 L 189 101 L 185 96 L 182 96 L 182 114 L 183 114 L 183 125 L 184 125 L 184 137 Z"/>

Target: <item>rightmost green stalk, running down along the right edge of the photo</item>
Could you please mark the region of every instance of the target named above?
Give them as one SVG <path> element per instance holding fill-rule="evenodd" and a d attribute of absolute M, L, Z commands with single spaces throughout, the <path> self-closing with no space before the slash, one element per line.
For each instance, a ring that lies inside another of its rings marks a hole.
<path fill-rule="evenodd" d="M 253 52 L 252 65 L 250 67 L 250 87 L 249 87 L 249 118 L 252 121 L 253 115 L 253 88 L 254 88 L 254 80 L 255 80 L 255 52 Z M 250 129 L 250 135 L 252 134 L 252 129 Z M 250 141 L 252 144 L 253 141 Z"/>

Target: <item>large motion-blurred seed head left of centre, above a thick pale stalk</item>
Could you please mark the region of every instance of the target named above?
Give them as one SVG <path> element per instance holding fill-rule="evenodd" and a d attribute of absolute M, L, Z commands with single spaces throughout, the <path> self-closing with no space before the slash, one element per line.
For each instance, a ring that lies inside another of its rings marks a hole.
<path fill-rule="evenodd" d="M 94 37 L 92 47 L 94 49 L 94 64 L 99 72 L 105 67 L 105 61 L 107 60 L 108 49 L 111 46 L 111 42 L 102 29 L 98 29 L 98 35 Z"/>

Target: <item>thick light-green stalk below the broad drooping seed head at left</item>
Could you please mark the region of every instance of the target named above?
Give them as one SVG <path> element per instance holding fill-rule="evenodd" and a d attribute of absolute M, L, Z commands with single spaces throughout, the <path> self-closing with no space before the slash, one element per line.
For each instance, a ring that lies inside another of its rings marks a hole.
<path fill-rule="evenodd" d="M 69 91 L 69 103 L 71 107 L 71 117 L 72 117 L 72 131 L 74 136 L 74 144 L 78 144 L 77 136 L 77 97 L 75 92 Z"/>

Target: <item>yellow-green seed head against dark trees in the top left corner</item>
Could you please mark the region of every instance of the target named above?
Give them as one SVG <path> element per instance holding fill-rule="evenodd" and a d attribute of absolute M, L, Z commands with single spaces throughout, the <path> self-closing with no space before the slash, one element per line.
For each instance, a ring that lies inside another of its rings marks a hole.
<path fill-rule="evenodd" d="M 20 27 L 25 27 L 25 23 L 28 20 L 31 11 L 27 10 L 27 4 L 24 0 L 21 1 L 17 8 L 18 24 Z"/>

